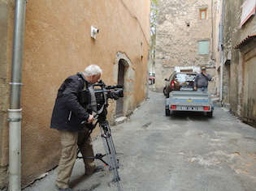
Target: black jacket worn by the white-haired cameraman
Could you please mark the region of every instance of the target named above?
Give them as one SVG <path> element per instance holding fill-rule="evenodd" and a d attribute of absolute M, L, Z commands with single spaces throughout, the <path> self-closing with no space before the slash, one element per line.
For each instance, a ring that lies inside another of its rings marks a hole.
<path fill-rule="evenodd" d="M 69 76 L 59 87 L 54 104 L 50 128 L 82 131 L 82 121 L 87 121 L 89 111 L 80 103 L 80 91 L 89 86 L 83 74 Z"/>

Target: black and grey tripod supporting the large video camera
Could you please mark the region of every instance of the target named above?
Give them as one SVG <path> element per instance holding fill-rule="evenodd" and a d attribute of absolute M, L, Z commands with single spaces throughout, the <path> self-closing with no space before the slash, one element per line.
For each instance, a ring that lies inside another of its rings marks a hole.
<path fill-rule="evenodd" d="M 85 135 L 85 138 L 83 139 L 82 143 L 80 144 L 80 146 L 83 146 L 83 144 L 85 143 L 86 139 L 89 138 L 89 135 L 93 132 L 93 129 L 96 127 L 96 125 L 99 123 L 100 129 L 101 129 L 101 136 L 102 136 L 102 141 L 103 141 L 103 145 L 104 145 L 104 149 L 106 154 L 102 155 L 102 154 L 97 154 L 95 156 L 92 157 L 85 157 L 86 159 L 99 159 L 101 160 L 103 163 L 105 163 L 108 167 L 109 170 L 113 173 L 114 176 L 114 182 L 117 185 L 117 189 L 118 191 L 121 191 L 120 185 L 119 185 L 119 173 L 117 171 L 117 169 L 119 168 L 119 161 L 118 159 L 116 159 L 116 152 L 115 152 L 115 146 L 114 146 L 114 142 L 111 136 L 111 129 L 110 126 L 108 124 L 108 121 L 103 120 L 103 121 L 98 121 L 93 125 L 93 128 L 89 129 L 89 132 Z M 80 152 L 80 146 L 78 148 L 77 154 Z M 106 163 L 106 161 L 104 161 L 102 159 L 102 157 L 106 156 L 108 159 L 108 163 Z M 78 157 L 78 158 L 83 158 L 83 157 Z"/>

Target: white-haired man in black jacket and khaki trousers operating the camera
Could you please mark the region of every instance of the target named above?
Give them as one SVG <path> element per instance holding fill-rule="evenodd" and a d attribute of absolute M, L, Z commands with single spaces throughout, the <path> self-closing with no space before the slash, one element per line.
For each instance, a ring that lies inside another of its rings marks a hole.
<path fill-rule="evenodd" d="M 55 181 L 56 190 L 72 191 L 68 188 L 68 183 L 76 162 L 77 148 L 82 144 L 83 138 L 89 131 L 81 125 L 81 122 L 93 122 L 92 111 L 80 103 L 80 91 L 97 83 L 101 75 L 102 69 L 99 66 L 89 65 L 85 71 L 69 76 L 59 87 L 50 121 L 50 128 L 59 130 L 62 145 L 58 178 Z M 84 157 L 85 174 L 87 175 L 102 171 L 104 168 L 103 166 L 97 167 L 93 159 L 85 159 L 85 157 L 94 156 L 91 141 L 92 139 L 89 137 L 85 144 L 80 146 L 80 152 Z"/>

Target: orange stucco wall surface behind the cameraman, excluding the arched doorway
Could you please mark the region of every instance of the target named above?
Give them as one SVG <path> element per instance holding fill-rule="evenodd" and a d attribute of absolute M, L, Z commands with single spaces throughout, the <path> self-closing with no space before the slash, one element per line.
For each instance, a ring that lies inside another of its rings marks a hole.
<path fill-rule="evenodd" d="M 15 1 L 2 3 L 14 13 Z M 124 53 L 135 73 L 131 105 L 136 108 L 146 98 L 150 47 L 150 0 L 28 1 L 26 8 L 21 91 L 23 186 L 58 165 L 59 134 L 50 129 L 50 117 L 63 80 L 94 63 L 103 70 L 102 80 L 112 85 L 116 83 L 115 55 Z M 8 15 L 8 19 L 14 18 Z M 99 28 L 96 40 L 90 36 L 91 25 Z M 9 51 L 11 40 L 9 36 Z M 10 62 L 7 68 L 10 78 Z M 114 112 L 115 105 L 110 107 Z"/>

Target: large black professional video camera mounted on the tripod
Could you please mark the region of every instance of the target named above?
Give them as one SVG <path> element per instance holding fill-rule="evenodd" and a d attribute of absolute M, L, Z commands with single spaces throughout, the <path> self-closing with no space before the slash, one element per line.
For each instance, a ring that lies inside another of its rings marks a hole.
<path fill-rule="evenodd" d="M 101 80 L 80 92 L 80 103 L 100 114 L 102 108 L 108 106 L 108 99 L 118 100 L 120 97 L 124 97 L 123 86 L 106 86 Z"/>

